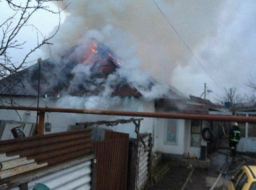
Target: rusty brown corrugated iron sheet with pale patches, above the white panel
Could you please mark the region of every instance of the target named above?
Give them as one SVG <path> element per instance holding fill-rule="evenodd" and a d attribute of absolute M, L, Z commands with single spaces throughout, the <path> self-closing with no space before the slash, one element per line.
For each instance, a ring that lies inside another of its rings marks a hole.
<path fill-rule="evenodd" d="M 0 141 L 0 178 L 91 153 L 91 129 Z"/>

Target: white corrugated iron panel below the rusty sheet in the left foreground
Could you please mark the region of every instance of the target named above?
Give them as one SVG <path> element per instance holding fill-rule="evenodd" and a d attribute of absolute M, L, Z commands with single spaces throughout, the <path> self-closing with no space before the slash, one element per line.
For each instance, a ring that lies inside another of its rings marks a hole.
<path fill-rule="evenodd" d="M 89 190 L 91 189 L 91 164 L 91 161 L 86 161 L 30 181 L 28 189 L 32 190 L 37 183 L 42 183 L 51 190 Z"/>

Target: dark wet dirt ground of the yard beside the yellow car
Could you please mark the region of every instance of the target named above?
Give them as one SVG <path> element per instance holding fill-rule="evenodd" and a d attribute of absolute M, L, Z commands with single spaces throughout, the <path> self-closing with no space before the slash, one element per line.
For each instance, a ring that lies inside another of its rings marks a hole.
<path fill-rule="evenodd" d="M 224 151 L 225 152 L 225 151 Z M 256 158 L 249 156 L 240 156 L 238 159 L 237 165 L 233 165 L 233 168 L 239 168 L 241 165 L 241 159 L 245 160 L 243 165 L 255 165 Z M 206 190 L 214 184 L 215 180 L 219 175 L 220 169 L 223 167 L 223 164 L 226 162 L 226 155 L 220 152 L 214 152 L 211 154 L 210 158 L 210 168 L 208 169 L 194 169 L 191 177 L 188 179 L 184 190 Z M 230 157 L 230 160 L 232 158 Z M 145 189 L 161 189 L 161 190 L 180 190 L 184 185 L 186 179 L 188 178 L 192 168 L 186 167 L 168 167 L 167 173 L 154 183 L 153 185 L 146 186 Z M 231 171 L 231 170 L 230 170 Z M 215 190 L 224 190 L 228 184 L 228 177 L 232 175 L 222 175 L 220 180 L 217 183 Z"/>

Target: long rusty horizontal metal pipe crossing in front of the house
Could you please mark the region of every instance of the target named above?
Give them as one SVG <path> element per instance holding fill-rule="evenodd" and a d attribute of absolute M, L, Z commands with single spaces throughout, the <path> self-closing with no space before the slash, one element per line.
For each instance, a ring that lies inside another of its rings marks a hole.
<path fill-rule="evenodd" d="M 39 112 L 60 112 L 60 113 L 78 113 L 92 115 L 118 115 L 118 116 L 134 116 L 147 118 L 167 118 L 167 119 L 188 119 L 188 120 L 206 120 L 206 121 L 236 121 L 256 123 L 256 117 L 245 116 L 224 116 L 224 115 L 200 115 L 200 114 L 181 114 L 181 113 L 155 113 L 155 112 L 128 112 L 116 110 L 92 110 L 92 109 L 69 109 L 69 108 L 37 108 L 37 107 L 16 107 L 16 106 L 0 106 L 0 109 L 11 110 L 30 110 Z"/>

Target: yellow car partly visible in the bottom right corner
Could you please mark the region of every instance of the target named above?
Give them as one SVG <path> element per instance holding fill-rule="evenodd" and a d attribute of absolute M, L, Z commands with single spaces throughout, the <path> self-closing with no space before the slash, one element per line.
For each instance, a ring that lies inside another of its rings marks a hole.
<path fill-rule="evenodd" d="M 256 165 L 244 165 L 232 176 L 228 190 L 256 190 Z"/>

